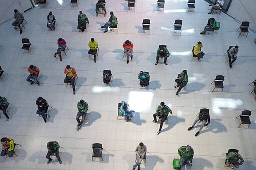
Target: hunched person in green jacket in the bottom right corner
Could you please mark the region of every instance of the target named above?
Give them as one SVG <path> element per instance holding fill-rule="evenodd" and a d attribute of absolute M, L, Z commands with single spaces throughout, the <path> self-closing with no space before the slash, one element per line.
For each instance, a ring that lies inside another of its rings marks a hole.
<path fill-rule="evenodd" d="M 239 162 L 240 160 L 240 162 Z M 231 169 L 233 169 L 233 166 L 235 168 L 239 168 L 239 165 L 243 164 L 243 159 L 240 156 L 240 154 L 235 153 L 235 152 L 229 152 L 226 155 L 226 166 L 229 167 L 231 166 Z"/>

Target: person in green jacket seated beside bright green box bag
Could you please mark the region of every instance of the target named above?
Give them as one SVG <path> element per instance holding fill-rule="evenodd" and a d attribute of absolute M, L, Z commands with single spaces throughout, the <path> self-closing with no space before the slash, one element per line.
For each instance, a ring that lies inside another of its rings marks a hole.
<path fill-rule="evenodd" d="M 178 155 L 180 156 L 180 159 L 179 159 L 180 167 L 184 165 L 187 165 L 189 167 L 192 166 L 194 150 L 189 145 L 181 146 L 178 149 Z"/>

